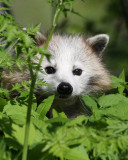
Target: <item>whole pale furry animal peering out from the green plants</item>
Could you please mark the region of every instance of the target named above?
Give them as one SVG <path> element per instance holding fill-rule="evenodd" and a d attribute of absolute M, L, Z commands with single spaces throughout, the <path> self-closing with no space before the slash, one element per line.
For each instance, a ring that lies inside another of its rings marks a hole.
<path fill-rule="evenodd" d="M 46 39 L 41 34 L 36 37 L 39 47 L 45 45 Z M 35 93 L 43 99 L 54 94 L 52 108 L 61 108 L 70 119 L 81 114 L 87 115 L 88 111 L 83 107 L 80 97 L 84 94 L 97 95 L 111 87 L 110 74 L 102 64 L 102 53 L 108 41 L 106 34 L 90 38 L 53 34 L 47 49 L 52 56 L 50 60 L 44 57 L 42 61 L 41 69 L 45 74 L 38 73 L 38 80 L 44 79 L 51 85 L 38 86 Z M 40 58 L 39 53 L 37 56 Z M 29 78 L 28 70 L 25 75 L 19 71 L 2 74 L 3 84 L 8 84 L 9 88 Z"/>

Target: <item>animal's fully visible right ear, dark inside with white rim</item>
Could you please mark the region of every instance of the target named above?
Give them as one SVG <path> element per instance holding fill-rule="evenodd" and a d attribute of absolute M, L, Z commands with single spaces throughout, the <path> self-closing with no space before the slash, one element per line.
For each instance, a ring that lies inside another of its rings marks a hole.
<path fill-rule="evenodd" d="M 86 41 L 97 54 L 100 54 L 106 48 L 109 42 L 109 36 L 107 34 L 99 34 L 88 38 Z"/>

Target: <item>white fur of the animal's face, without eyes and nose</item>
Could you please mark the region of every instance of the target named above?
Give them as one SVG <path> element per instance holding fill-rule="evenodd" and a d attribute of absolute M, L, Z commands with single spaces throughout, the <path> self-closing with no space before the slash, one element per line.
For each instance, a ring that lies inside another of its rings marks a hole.
<path fill-rule="evenodd" d="M 108 39 L 108 36 L 106 38 Z M 45 91 L 56 93 L 57 86 L 61 82 L 68 82 L 73 87 L 71 96 L 80 96 L 90 92 L 86 89 L 90 77 L 107 74 L 100 62 L 100 58 L 92 53 L 92 50 L 81 36 L 53 35 L 48 51 L 52 54 L 52 57 L 50 62 L 46 57 L 44 58 L 42 69 L 52 66 L 56 68 L 56 73 L 49 75 L 39 73 L 39 79 L 44 78 L 46 82 L 52 85 L 40 86 L 42 94 Z M 83 70 L 82 75 L 72 74 L 72 71 L 76 68 Z M 106 81 L 108 81 L 108 78 Z"/>

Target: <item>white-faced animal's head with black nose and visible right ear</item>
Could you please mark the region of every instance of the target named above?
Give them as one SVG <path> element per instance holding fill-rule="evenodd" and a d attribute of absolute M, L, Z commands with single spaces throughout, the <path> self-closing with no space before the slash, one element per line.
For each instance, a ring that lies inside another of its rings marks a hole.
<path fill-rule="evenodd" d="M 38 79 L 43 78 L 51 85 L 39 86 L 40 93 L 69 98 L 108 89 L 109 73 L 101 63 L 108 41 L 106 34 L 88 39 L 78 35 L 53 35 L 48 46 L 52 57 L 50 60 L 44 57 L 42 69 L 45 74 L 38 74 Z"/>

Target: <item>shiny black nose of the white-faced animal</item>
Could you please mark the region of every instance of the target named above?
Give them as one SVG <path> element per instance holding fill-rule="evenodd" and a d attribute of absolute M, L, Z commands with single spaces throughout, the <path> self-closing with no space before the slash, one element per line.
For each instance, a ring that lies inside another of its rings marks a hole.
<path fill-rule="evenodd" d="M 62 95 L 70 95 L 73 91 L 72 86 L 67 82 L 62 82 L 58 85 L 57 91 Z"/>

